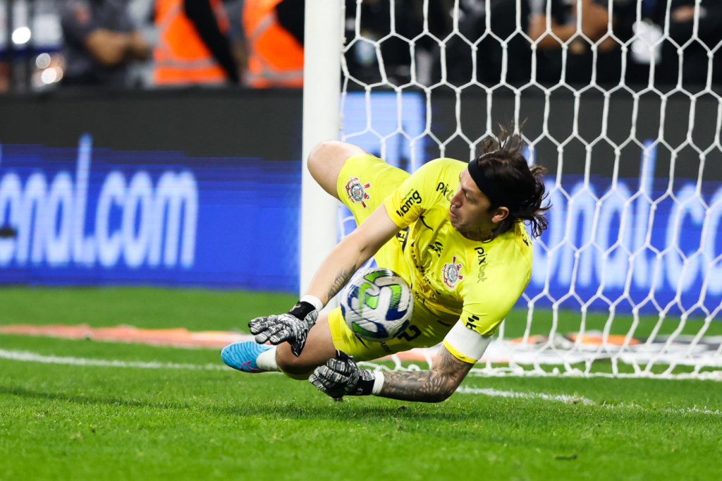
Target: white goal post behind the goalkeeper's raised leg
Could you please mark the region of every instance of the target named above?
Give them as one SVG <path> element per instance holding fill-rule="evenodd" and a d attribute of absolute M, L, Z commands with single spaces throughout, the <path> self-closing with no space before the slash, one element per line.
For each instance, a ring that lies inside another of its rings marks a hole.
<path fill-rule="evenodd" d="M 341 1 L 306 0 L 304 29 L 300 295 L 337 239 L 338 202 L 308 173 L 308 155 L 319 142 L 339 138 Z"/>

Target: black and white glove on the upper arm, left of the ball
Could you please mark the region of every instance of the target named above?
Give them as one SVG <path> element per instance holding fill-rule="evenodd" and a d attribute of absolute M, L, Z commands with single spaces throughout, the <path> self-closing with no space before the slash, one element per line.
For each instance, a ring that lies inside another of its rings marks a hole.
<path fill-rule="evenodd" d="M 248 322 L 248 327 L 251 329 L 251 334 L 256 336 L 258 344 L 264 344 L 266 341 L 272 345 L 288 342 L 291 345 L 291 352 L 298 357 L 303 351 L 308 332 L 313 324 L 316 324 L 316 319 L 318 319 L 316 307 L 300 300 L 287 313 L 257 317 Z"/>

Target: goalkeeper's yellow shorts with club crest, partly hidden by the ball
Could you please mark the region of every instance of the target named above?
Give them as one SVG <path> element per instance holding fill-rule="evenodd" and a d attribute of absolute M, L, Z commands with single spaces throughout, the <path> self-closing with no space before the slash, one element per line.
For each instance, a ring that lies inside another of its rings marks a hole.
<path fill-rule="evenodd" d="M 350 157 L 339 173 L 336 191 L 339 199 L 351 210 L 356 225 L 367 219 L 378 206 L 383 204 L 397 187 L 409 178 L 409 173 L 391 167 L 378 157 L 370 154 Z M 407 230 L 401 230 L 396 237 L 384 244 L 374 258 L 379 267 L 391 269 L 411 285 L 409 266 L 404 260 L 402 246 Z M 443 340 L 446 333 L 458 320 L 458 316 L 432 313 L 419 301 L 414 292 L 414 316 L 411 324 L 398 337 L 387 342 L 369 342 L 356 337 L 349 329 L 341 314 L 341 308 L 329 313 L 329 327 L 336 349 L 352 355 L 356 360 L 373 360 L 412 347 L 430 347 Z"/>

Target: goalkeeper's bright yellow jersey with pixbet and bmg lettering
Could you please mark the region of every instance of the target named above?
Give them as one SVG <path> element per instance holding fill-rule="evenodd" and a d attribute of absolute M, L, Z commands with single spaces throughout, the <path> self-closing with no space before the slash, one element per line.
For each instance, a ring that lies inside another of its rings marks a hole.
<path fill-rule="evenodd" d="M 529 284 L 532 248 L 521 222 L 485 243 L 471 241 L 451 226 L 450 201 L 466 165 L 432 160 L 384 204 L 401 228 L 391 241 L 403 251 L 406 272 L 399 274 L 409 277 L 417 300 L 446 319 L 460 316 L 469 329 L 490 335 Z"/>

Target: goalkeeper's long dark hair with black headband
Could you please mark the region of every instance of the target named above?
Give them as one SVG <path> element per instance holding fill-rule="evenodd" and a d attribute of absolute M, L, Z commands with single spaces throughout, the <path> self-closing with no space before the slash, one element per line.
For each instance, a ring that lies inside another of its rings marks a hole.
<path fill-rule="evenodd" d="M 515 205 L 505 206 L 509 215 L 492 231 L 490 240 L 510 230 L 520 220 L 531 224 L 531 235 L 535 238 L 547 229 L 544 213 L 552 206 L 541 205 L 549 195 L 544 188 L 547 169 L 528 165 L 523 155 L 524 147 L 521 133 L 513 133 L 512 126 L 502 127 L 497 139 L 487 137 L 482 141 L 482 155 L 477 157 L 477 165 L 490 181 L 512 193 L 516 199 Z M 492 205 L 490 212 L 498 207 Z"/>

